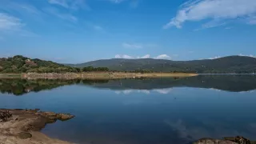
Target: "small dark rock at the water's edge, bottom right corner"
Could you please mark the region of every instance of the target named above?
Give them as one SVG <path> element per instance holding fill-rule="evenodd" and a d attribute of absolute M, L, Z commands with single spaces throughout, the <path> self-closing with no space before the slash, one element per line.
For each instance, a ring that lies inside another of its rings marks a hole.
<path fill-rule="evenodd" d="M 250 141 L 247 138 L 241 136 L 238 137 L 226 137 L 221 139 L 202 138 L 194 144 L 256 144 L 255 141 Z"/>

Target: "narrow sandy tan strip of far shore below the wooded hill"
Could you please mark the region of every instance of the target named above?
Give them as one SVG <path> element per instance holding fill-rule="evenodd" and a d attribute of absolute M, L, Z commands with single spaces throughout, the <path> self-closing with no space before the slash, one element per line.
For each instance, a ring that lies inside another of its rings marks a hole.
<path fill-rule="evenodd" d="M 27 73 L 27 74 L 0 74 L 0 78 L 27 78 L 27 79 L 122 79 L 122 78 L 186 78 L 198 74 L 188 73 L 124 73 L 124 72 L 88 72 L 88 73 Z"/>

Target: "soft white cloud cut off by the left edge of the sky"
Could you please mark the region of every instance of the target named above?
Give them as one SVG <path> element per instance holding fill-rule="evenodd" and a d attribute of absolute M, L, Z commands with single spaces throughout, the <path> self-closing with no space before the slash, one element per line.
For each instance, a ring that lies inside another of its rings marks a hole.
<path fill-rule="evenodd" d="M 0 13 L 0 31 L 2 30 L 19 30 L 25 24 L 22 20 L 9 14 Z"/>

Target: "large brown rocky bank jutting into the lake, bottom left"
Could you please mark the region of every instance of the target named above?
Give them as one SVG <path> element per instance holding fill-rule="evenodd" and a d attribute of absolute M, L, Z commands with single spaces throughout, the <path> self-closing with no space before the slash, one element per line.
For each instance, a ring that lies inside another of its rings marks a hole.
<path fill-rule="evenodd" d="M 66 121 L 74 118 L 70 114 L 56 114 L 38 110 L 0 109 L 0 143 L 1 144 L 70 144 L 49 138 L 39 132 L 47 123 L 57 120 Z"/>

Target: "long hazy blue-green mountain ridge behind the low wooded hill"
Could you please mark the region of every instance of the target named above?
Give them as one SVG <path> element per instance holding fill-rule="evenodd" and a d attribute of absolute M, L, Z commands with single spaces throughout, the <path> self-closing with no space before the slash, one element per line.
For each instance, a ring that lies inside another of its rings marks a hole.
<path fill-rule="evenodd" d="M 74 67 L 108 67 L 110 70 L 151 70 L 157 72 L 196 72 L 196 73 L 256 73 L 256 58 L 229 56 L 216 59 L 194 61 L 171 61 L 163 59 L 105 59 L 86 62 Z"/>

